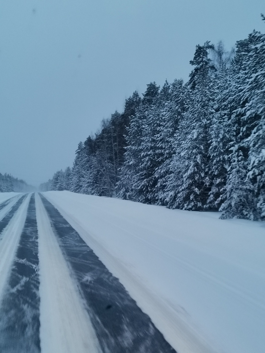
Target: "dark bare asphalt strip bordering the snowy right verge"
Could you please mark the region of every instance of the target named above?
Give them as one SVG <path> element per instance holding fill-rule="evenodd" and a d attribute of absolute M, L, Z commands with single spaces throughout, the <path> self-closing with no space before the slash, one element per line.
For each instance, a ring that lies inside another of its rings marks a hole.
<path fill-rule="evenodd" d="M 83 241 L 80 235 L 42 195 L 54 234 L 80 292 L 104 353 L 173 353 L 149 316 Z"/>

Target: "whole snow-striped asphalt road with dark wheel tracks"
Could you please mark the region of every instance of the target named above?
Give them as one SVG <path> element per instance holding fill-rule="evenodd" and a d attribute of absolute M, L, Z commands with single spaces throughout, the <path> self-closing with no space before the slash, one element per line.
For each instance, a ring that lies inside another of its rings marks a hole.
<path fill-rule="evenodd" d="M 174 353 L 45 197 L 0 204 L 1 353 Z"/>

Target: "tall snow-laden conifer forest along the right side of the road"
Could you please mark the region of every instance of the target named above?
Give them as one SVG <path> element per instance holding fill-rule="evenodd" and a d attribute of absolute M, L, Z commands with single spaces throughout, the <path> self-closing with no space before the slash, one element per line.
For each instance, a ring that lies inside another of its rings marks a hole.
<path fill-rule="evenodd" d="M 135 91 L 42 190 L 264 219 L 265 35 L 253 31 L 231 52 L 197 45 L 190 64 L 185 84 Z"/>

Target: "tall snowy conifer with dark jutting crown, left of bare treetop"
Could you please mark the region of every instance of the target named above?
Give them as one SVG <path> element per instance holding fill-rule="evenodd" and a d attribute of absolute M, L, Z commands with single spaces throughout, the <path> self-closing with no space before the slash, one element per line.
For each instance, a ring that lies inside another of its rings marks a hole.
<path fill-rule="evenodd" d="M 195 66 L 188 84 L 188 110 L 184 113 L 181 129 L 181 143 L 171 162 L 171 168 L 178 174 L 179 185 L 169 198 L 169 207 L 184 210 L 204 210 L 211 179 L 207 173 L 209 163 L 209 127 L 212 121 L 212 96 L 216 71 L 208 58 L 210 42 L 197 45 Z M 178 138 L 179 138 L 178 137 Z M 172 184 L 172 181 L 171 183 Z M 171 185 L 172 187 L 172 185 Z"/>

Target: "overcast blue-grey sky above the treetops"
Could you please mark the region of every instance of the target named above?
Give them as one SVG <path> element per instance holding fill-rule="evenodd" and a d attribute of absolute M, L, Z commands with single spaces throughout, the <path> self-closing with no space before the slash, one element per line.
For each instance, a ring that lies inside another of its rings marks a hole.
<path fill-rule="evenodd" d="M 264 32 L 264 0 L 2 0 L 0 172 L 39 185 L 134 90 L 187 81 L 196 44 Z"/>

